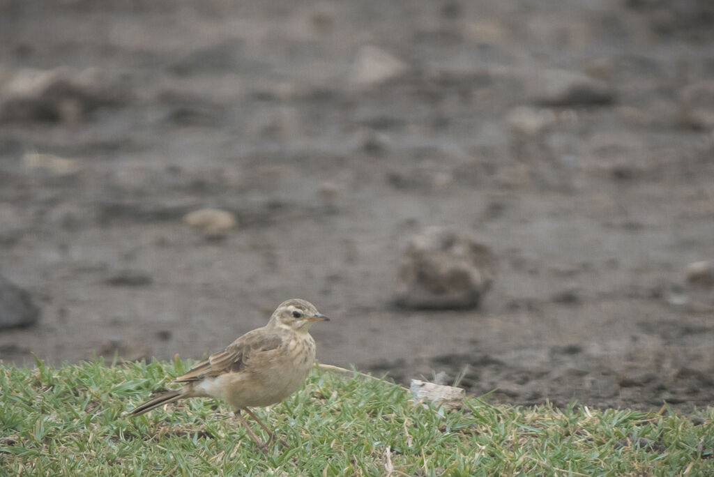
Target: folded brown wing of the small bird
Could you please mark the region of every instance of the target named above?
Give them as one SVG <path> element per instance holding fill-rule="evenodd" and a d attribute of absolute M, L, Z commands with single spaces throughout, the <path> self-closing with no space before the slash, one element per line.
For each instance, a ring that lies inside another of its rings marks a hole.
<path fill-rule="evenodd" d="M 283 337 L 276 332 L 266 333 L 265 328 L 249 331 L 223 351 L 208 356 L 191 368 L 188 373 L 174 379 L 175 383 L 200 381 L 223 373 L 235 373 L 245 368 L 250 361 L 274 353 L 283 344 Z"/>

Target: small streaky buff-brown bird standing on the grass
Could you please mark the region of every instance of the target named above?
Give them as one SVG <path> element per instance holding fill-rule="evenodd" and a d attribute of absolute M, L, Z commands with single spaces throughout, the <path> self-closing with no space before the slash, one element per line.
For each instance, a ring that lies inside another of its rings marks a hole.
<path fill-rule="evenodd" d="M 328 319 L 308 301 L 283 301 L 266 326 L 248 331 L 223 351 L 178 376 L 174 383 L 183 383 L 183 387 L 146 401 L 129 416 L 140 416 L 178 399 L 218 398 L 231 405 L 253 441 L 265 451 L 266 445 L 241 411 L 255 419 L 273 440 L 273 433 L 248 407 L 279 403 L 302 386 L 315 361 L 315 340 L 308 329 L 316 321 Z"/>

